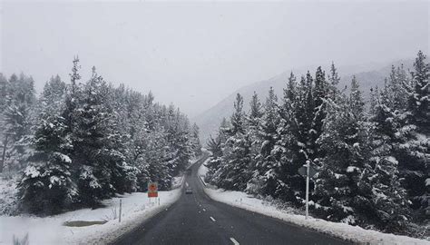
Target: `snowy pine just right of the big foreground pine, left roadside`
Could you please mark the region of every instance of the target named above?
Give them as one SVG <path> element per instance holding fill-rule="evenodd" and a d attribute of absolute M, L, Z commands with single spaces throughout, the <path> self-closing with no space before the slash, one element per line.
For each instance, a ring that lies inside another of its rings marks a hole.
<path fill-rule="evenodd" d="M 79 166 L 75 173 L 80 201 L 85 205 L 127 191 L 124 181 L 131 181 L 125 178 L 133 170 L 125 162 L 122 136 L 115 128 L 111 92 L 93 67 L 92 78 L 83 85 L 73 110 L 72 160 Z"/>

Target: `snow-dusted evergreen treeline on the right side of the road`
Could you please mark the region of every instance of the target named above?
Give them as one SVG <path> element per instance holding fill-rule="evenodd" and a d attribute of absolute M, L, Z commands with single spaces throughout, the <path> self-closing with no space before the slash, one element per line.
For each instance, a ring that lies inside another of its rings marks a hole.
<path fill-rule="evenodd" d="M 382 88 L 365 103 L 354 77 L 339 90 L 332 64 L 299 79 L 291 73 L 279 100 L 254 93 L 243 111 L 238 93 L 230 120 L 221 122 L 208 147 L 208 181 L 220 188 L 271 196 L 303 207 L 307 161 L 318 174 L 311 185 L 314 215 L 405 232 L 428 220 L 429 71 L 419 52 L 414 71 L 392 67 Z"/>

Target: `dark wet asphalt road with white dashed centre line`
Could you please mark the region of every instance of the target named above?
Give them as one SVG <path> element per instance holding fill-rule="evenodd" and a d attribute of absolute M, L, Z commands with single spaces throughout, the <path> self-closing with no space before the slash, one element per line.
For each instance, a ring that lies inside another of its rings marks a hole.
<path fill-rule="evenodd" d="M 114 245 L 132 244 L 349 244 L 282 220 L 212 201 L 197 177 L 200 162 L 185 175 L 192 194 L 178 201 Z"/>

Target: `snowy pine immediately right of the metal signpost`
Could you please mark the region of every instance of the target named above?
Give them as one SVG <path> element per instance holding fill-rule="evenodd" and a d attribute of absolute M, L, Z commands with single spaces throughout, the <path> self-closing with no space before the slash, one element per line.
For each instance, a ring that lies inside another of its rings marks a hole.
<path fill-rule="evenodd" d="M 355 77 L 348 98 L 335 94 L 327 100 L 327 119 L 318 139 L 326 156 L 319 162 L 315 208 L 327 220 L 357 224 L 366 214 L 359 209 L 367 197 L 359 188 L 369 157 L 364 102 Z"/>

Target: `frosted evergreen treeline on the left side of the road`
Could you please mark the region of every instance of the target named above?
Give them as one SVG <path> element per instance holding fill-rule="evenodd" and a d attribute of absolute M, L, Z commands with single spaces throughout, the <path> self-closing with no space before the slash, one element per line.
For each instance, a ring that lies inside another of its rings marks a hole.
<path fill-rule="evenodd" d="M 148 181 L 169 190 L 200 154 L 199 129 L 179 109 L 114 87 L 94 67 L 83 81 L 78 62 L 71 83 L 57 75 L 38 98 L 31 77 L 0 77 L 5 171 L 23 172 L 23 211 L 95 207 L 115 193 L 146 191 Z"/>

